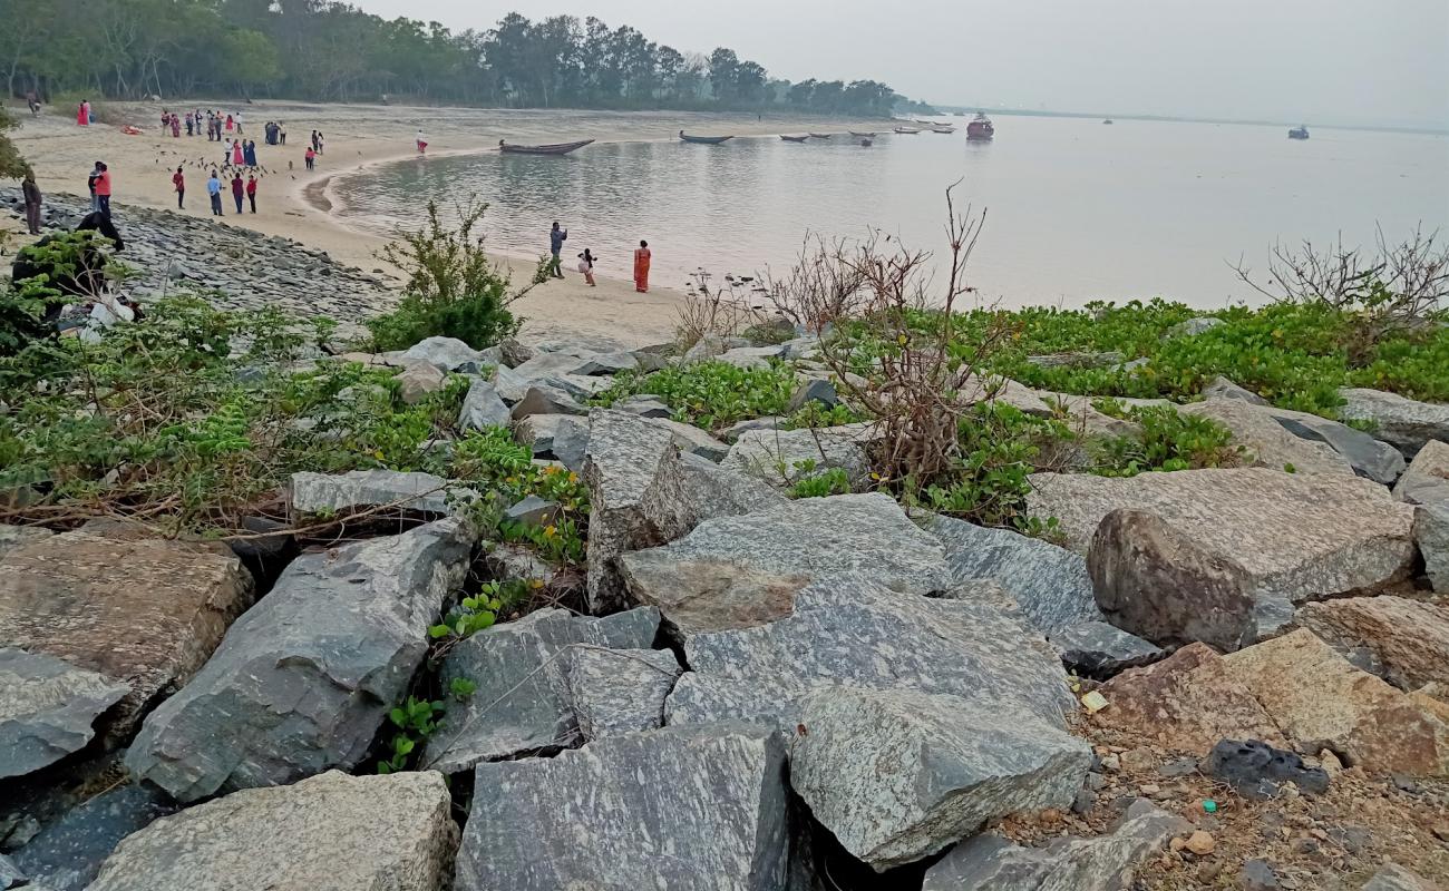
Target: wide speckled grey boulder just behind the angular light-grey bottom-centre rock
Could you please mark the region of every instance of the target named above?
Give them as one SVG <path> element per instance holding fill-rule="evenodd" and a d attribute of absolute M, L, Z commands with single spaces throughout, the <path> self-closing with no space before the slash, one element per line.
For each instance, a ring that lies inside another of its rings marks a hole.
<path fill-rule="evenodd" d="M 665 723 L 723 719 L 793 729 L 822 687 L 949 694 L 1062 726 L 1075 707 L 1051 646 L 987 598 L 900 593 L 869 574 L 822 578 L 769 624 L 691 635 Z"/>

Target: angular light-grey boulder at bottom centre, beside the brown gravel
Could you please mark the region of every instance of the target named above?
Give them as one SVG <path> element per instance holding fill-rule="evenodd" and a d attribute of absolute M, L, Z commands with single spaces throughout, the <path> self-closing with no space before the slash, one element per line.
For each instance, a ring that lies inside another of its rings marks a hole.
<path fill-rule="evenodd" d="M 790 785 L 877 871 L 927 858 L 987 820 L 1066 807 L 1091 749 L 1001 703 L 906 690 L 823 690 L 801 706 Z"/>

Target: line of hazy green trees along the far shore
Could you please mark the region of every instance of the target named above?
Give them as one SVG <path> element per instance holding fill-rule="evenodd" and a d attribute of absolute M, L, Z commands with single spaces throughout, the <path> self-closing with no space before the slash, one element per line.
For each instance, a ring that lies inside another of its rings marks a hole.
<path fill-rule="evenodd" d="M 504 16 L 488 30 L 385 20 L 330 0 L 0 0 L 10 96 L 239 94 L 497 107 L 923 110 L 874 80 L 790 83 L 596 17 Z"/>

